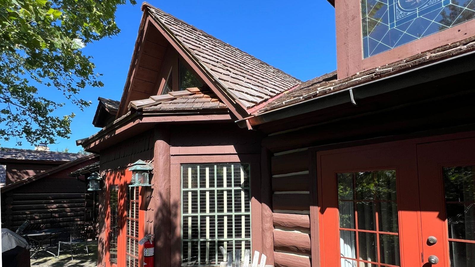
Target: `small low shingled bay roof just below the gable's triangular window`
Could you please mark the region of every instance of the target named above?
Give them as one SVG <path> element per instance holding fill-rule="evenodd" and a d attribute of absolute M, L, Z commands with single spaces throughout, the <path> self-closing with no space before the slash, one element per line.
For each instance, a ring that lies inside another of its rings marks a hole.
<path fill-rule="evenodd" d="M 129 110 L 134 108 L 143 111 L 228 111 L 228 107 L 219 101 L 208 88 L 188 88 L 185 91 L 170 92 L 166 95 L 153 95 L 148 99 L 132 101 Z"/>

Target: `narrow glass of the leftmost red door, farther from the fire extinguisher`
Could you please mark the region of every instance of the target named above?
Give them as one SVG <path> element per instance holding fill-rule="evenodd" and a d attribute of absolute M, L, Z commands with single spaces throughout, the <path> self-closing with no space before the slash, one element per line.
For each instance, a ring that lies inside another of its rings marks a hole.
<path fill-rule="evenodd" d="M 119 186 L 111 185 L 109 193 L 109 260 L 117 264 L 117 235 L 119 234 Z"/>

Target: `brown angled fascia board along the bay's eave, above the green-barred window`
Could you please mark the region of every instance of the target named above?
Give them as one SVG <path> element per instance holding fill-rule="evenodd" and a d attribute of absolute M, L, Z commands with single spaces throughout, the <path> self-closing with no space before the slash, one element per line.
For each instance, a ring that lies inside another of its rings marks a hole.
<path fill-rule="evenodd" d="M 234 120 L 228 112 L 209 113 L 208 110 L 206 112 L 173 111 L 173 113 L 165 113 L 151 111 L 134 113 L 133 116 L 104 128 L 82 143 L 78 143 L 77 141 L 76 143 L 81 145 L 85 151 L 98 152 L 103 147 L 112 145 L 114 142 L 120 142 L 121 140 L 151 129 L 155 124 L 190 124 L 199 122 L 234 122 Z"/>

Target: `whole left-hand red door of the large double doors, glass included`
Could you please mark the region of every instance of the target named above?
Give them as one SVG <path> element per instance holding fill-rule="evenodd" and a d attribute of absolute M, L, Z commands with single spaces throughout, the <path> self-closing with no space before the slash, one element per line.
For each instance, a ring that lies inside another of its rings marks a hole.
<path fill-rule="evenodd" d="M 355 147 L 317 158 L 323 266 L 419 266 L 415 146 Z"/>

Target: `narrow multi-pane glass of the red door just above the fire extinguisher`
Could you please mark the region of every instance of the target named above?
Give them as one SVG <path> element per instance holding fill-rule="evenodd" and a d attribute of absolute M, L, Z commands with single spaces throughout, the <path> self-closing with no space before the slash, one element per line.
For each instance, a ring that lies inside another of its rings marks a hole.
<path fill-rule="evenodd" d="M 139 266 L 139 187 L 127 187 L 125 266 Z"/>

